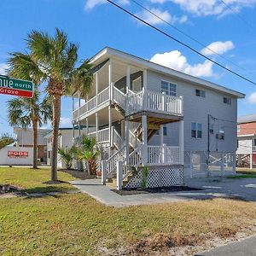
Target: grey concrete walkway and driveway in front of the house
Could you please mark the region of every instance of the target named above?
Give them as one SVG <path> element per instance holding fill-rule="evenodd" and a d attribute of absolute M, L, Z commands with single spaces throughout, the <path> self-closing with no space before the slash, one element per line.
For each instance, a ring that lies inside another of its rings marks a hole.
<path fill-rule="evenodd" d="M 102 185 L 99 179 L 75 180 L 71 183 L 97 201 L 112 207 L 154 205 L 212 198 L 239 198 L 256 201 L 256 178 L 201 178 L 190 180 L 187 185 L 202 190 L 140 195 L 118 195 L 112 191 L 112 188 Z"/>

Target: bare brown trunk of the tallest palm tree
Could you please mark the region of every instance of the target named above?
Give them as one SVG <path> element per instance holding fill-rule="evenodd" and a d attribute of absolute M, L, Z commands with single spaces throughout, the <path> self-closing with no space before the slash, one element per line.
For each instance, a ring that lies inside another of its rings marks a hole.
<path fill-rule="evenodd" d="M 57 164 L 58 164 L 58 137 L 61 119 L 61 96 L 53 96 L 53 143 L 52 143 L 52 161 L 51 161 L 51 180 L 57 181 Z"/>

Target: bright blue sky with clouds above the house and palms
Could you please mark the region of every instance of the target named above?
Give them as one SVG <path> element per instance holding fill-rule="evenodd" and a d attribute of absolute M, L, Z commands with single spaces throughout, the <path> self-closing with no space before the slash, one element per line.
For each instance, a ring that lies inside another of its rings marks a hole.
<path fill-rule="evenodd" d="M 233 11 L 220 0 L 137 1 L 242 69 L 218 55 L 211 55 L 211 52 L 185 38 L 171 26 L 144 13 L 135 3 L 129 0 L 119 0 L 118 3 L 214 60 L 256 81 L 256 0 L 224 0 Z M 67 32 L 71 41 L 79 44 L 80 60 L 89 58 L 105 46 L 148 60 L 153 58 L 153 61 L 166 66 L 247 94 L 246 99 L 239 101 L 238 114 L 256 112 L 255 85 L 212 66 L 199 55 L 143 26 L 104 0 L 1 0 L 0 9 L 0 73 L 6 67 L 9 52 L 26 50 L 24 39 L 28 32 L 34 29 L 53 33 L 58 27 Z M 242 21 L 241 17 L 247 22 Z M 6 115 L 6 101 L 10 96 L 0 97 L 0 133 L 12 132 Z M 61 126 L 71 125 L 71 108 L 71 100 L 64 98 Z"/>

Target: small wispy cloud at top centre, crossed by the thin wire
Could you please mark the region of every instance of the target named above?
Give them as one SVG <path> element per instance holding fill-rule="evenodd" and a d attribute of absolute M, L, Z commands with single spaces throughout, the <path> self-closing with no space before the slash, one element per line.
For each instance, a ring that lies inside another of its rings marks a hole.
<path fill-rule="evenodd" d="M 152 8 L 147 10 L 143 10 L 141 12 L 138 12 L 136 15 L 140 17 L 141 19 L 145 20 L 146 22 L 150 23 L 151 25 L 157 25 L 157 24 L 163 24 L 166 22 L 169 23 L 185 23 L 188 20 L 188 17 L 186 15 L 183 15 L 182 17 L 172 16 L 167 10 L 163 11 L 161 9 Z M 152 14 L 154 13 L 154 15 Z M 155 16 L 156 15 L 156 16 Z M 160 18 L 158 18 L 159 16 Z"/>

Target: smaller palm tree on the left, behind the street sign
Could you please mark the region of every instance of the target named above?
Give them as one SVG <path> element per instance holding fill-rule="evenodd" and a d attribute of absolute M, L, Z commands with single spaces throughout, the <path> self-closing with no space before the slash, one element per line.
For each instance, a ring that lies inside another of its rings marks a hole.
<path fill-rule="evenodd" d="M 18 97 L 8 101 L 9 124 L 33 130 L 33 168 L 38 168 L 38 126 L 47 124 L 52 117 L 49 97 L 39 99 L 38 90 L 31 99 Z"/>

